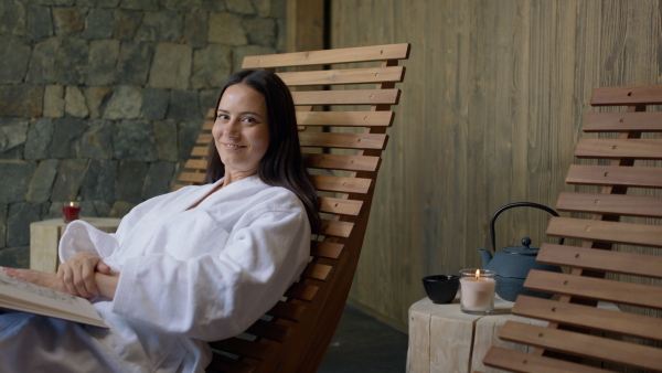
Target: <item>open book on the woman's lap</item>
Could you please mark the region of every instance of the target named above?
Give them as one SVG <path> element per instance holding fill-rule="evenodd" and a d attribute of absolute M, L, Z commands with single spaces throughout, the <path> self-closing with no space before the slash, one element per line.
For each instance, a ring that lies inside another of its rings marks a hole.
<path fill-rule="evenodd" d="M 87 299 L 11 278 L 0 270 L 0 309 L 108 328 Z"/>

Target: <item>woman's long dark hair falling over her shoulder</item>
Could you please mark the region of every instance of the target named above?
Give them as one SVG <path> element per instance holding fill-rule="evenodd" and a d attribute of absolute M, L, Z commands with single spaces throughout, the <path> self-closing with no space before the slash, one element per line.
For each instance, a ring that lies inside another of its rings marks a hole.
<path fill-rule="evenodd" d="M 259 92 L 267 104 L 267 122 L 269 127 L 269 146 L 259 162 L 257 174 L 269 185 L 282 186 L 295 193 L 306 207 L 312 233 L 321 227 L 319 203 L 314 185 L 303 166 L 295 102 L 292 95 L 278 75 L 264 70 L 244 70 L 231 75 L 221 89 L 221 97 L 227 87 L 245 84 Z M 214 113 L 214 120 L 217 113 Z M 205 183 L 218 181 L 225 175 L 225 164 L 216 150 L 215 141 L 210 142 Z"/>

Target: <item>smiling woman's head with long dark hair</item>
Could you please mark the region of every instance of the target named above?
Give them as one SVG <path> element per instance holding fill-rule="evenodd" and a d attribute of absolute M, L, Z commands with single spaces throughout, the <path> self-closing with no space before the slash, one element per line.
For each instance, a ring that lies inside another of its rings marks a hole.
<path fill-rule="evenodd" d="M 221 89 L 215 115 L 205 183 L 245 178 L 256 164 L 260 180 L 301 200 L 318 233 L 318 199 L 301 158 L 295 102 L 280 77 L 264 70 L 233 74 Z"/>

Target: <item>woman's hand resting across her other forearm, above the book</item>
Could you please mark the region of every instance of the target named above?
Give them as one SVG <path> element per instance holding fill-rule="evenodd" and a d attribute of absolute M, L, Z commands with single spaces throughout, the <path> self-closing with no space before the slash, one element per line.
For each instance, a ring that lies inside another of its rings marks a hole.
<path fill-rule="evenodd" d="M 110 267 L 96 254 L 76 253 L 57 268 L 57 286 L 71 295 L 93 298 L 100 294 L 95 273 L 109 275 Z"/>

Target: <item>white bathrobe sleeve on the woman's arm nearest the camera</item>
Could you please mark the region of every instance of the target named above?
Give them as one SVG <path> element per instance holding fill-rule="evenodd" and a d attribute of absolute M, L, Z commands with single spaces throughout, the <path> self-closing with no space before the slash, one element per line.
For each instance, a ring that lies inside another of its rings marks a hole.
<path fill-rule="evenodd" d="M 248 209 L 229 237 L 224 230 L 209 230 L 202 245 L 216 254 L 128 259 L 113 312 L 157 331 L 205 341 L 241 333 L 278 301 L 308 263 L 310 225 L 298 200 L 289 205 L 296 209 Z M 215 245 L 225 247 L 218 252 Z"/>

